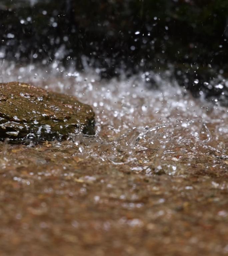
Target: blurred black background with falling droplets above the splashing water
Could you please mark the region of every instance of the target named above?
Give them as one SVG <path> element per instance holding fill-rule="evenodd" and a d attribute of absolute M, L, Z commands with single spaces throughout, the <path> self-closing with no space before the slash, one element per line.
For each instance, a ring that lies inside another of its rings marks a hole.
<path fill-rule="evenodd" d="M 227 0 L 1 0 L 0 14 L 0 61 L 73 60 L 107 79 L 169 68 L 228 102 Z"/>

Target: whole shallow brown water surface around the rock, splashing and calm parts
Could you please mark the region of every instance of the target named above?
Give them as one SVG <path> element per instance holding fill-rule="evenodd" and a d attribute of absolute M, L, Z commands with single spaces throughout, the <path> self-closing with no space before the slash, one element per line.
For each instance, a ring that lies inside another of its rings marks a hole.
<path fill-rule="evenodd" d="M 227 255 L 228 110 L 170 71 L 100 80 L 100 70 L 1 64 L 93 106 L 96 135 L 1 144 L 1 255 Z M 156 89 L 157 88 L 157 89 Z"/>

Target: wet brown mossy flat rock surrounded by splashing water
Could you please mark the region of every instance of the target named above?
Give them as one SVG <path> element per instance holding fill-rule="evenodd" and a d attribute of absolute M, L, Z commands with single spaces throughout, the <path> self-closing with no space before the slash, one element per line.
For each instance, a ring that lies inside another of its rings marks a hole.
<path fill-rule="evenodd" d="M 82 131 L 94 134 L 94 112 L 73 96 L 26 83 L 0 83 L 0 140 L 52 141 Z"/>

